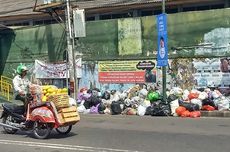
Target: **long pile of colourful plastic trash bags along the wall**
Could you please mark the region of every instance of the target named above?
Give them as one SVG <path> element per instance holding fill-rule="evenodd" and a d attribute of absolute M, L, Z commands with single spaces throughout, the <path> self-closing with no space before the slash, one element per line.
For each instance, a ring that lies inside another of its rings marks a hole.
<path fill-rule="evenodd" d="M 200 117 L 201 110 L 229 110 L 229 98 L 218 90 L 182 90 L 174 87 L 167 100 L 154 85 L 136 85 L 125 91 L 81 88 L 77 104 L 80 113 Z"/>

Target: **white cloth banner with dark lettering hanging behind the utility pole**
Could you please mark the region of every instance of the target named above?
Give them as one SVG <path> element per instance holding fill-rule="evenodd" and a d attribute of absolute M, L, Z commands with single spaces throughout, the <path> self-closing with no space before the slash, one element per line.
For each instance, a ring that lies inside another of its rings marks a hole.
<path fill-rule="evenodd" d="M 66 63 L 46 63 L 43 61 L 35 60 L 35 77 L 38 79 L 60 79 L 69 78 L 69 72 Z M 76 60 L 76 73 L 77 78 L 82 77 L 81 59 Z"/>

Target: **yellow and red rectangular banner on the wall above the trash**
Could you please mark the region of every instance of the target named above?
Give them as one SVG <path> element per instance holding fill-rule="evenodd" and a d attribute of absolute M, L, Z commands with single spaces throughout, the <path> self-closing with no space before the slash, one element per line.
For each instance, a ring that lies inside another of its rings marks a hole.
<path fill-rule="evenodd" d="M 156 68 L 153 61 L 99 62 L 100 83 L 155 83 Z"/>

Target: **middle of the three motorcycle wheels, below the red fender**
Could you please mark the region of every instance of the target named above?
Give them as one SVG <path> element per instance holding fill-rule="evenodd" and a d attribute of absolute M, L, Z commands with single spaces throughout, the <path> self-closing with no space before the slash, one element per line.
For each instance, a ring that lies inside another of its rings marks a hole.
<path fill-rule="evenodd" d="M 42 123 L 40 121 L 34 122 L 33 135 L 37 139 L 46 139 L 49 136 L 51 130 L 52 127 L 48 123 Z"/>

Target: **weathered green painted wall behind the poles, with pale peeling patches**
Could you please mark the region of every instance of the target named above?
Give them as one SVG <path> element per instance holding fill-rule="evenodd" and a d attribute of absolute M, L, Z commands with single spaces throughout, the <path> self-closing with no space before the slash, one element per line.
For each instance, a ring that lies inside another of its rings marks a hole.
<path fill-rule="evenodd" d="M 168 15 L 169 58 L 222 57 L 230 55 L 230 9 L 184 12 Z M 155 59 L 157 48 L 156 17 L 135 18 L 141 24 L 141 52 L 119 54 L 119 40 L 124 32 L 118 27 L 120 20 L 90 21 L 86 23 L 87 36 L 80 38 L 75 48 L 83 53 L 85 65 L 82 86 L 110 88 L 112 84 L 99 84 L 98 60 Z M 126 25 L 127 26 L 127 25 Z M 139 33 L 138 32 L 138 33 Z M 18 63 L 33 66 L 35 59 L 57 62 L 63 59 L 66 38 L 63 25 L 28 27 L 1 36 L 1 71 L 12 77 Z M 129 44 L 127 44 L 129 45 Z M 132 47 L 131 47 L 132 48 Z M 221 53 L 219 53 L 221 51 Z M 131 51 L 132 52 L 132 51 Z M 208 54 L 206 53 L 208 52 Z M 91 67 L 91 66 L 94 67 Z M 4 69 L 3 69 L 3 68 Z M 114 85 L 122 88 L 123 84 Z M 111 87 L 112 88 L 112 87 Z"/>

